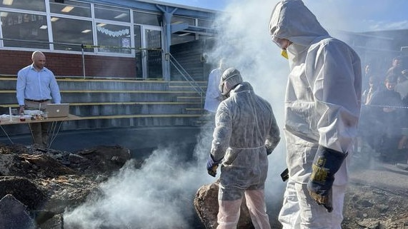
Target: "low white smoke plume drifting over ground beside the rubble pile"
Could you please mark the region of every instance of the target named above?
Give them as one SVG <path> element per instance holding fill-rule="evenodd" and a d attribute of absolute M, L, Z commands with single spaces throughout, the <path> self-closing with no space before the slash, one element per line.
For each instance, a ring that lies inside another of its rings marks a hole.
<path fill-rule="evenodd" d="M 154 151 L 139 169 L 128 161 L 101 184 L 98 195 L 64 213 L 64 228 L 191 228 L 194 195 L 214 180 L 202 162 L 206 151 L 197 148 L 191 162 L 185 148 L 168 146 Z"/>

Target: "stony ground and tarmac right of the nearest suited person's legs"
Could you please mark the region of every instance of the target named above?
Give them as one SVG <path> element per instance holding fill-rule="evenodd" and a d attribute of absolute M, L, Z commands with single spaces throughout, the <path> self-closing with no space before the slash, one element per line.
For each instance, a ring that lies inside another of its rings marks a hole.
<path fill-rule="evenodd" d="M 342 228 L 408 228 L 408 171 L 395 162 L 353 159 Z"/>

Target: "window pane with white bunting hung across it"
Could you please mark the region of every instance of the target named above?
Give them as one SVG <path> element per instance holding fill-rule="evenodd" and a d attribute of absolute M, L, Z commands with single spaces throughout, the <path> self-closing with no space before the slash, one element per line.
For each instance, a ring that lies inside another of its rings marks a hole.
<path fill-rule="evenodd" d="M 131 47 L 129 26 L 99 24 L 96 26 L 96 32 L 99 46 L 111 46 L 99 48 L 99 51 L 131 54 L 131 49 L 123 49 Z"/>

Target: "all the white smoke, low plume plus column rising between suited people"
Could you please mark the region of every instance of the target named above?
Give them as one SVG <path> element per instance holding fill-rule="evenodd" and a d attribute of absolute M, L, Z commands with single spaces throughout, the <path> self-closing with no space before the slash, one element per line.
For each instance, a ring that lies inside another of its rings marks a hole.
<path fill-rule="evenodd" d="M 268 34 L 270 11 L 274 1 L 260 5 L 258 1 L 230 5 L 228 19 L 219 19 L 225 46 L 219 46 L 210 56 L 217 63 L 226 56 L 254 86 L 260 96 L 274 107 L 275 116 L 283 123 L 283 98 L 287 81 L 287 61 Z M 214 182 L 207 174 L 206 163 L 211 147 L 213 126 L 204 126 L 197 136 L 194 160 L 187 162 L 185 150 L 168 146 L 154 151 L 144 166 L 135 169 L 127 163 L 120 173 L 101 185 L 101 195 L 74 210 L 64 213 L 64 228 L 192 228 L 196 218 L 193 199 L 201 185 Z M 182 139 L 181 139 L 182 141 Z M 284 183 L 279 173 L 285 168 L 284 138 L 269 160 L 270 179 L 267 196 L 279 201 Z M 277 184 L 270 184 L 276 182 Z M 269 197 L 268 197 L 269 198 Z M 270 201 L 269 201 L 270 203 Z M 277 207 L 279 208 L 279 206 Z"/>

